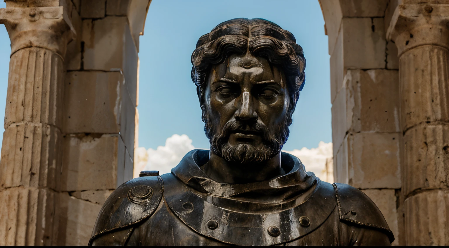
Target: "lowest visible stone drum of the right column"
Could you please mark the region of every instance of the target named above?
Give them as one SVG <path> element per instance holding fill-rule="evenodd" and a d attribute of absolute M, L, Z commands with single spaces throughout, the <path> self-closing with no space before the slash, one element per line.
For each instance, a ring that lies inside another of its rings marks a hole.
<path fill-rule="evenodd" d="M 426 190 L 404 202 L 405 245 L 449 245 L 449 193 Z"/>

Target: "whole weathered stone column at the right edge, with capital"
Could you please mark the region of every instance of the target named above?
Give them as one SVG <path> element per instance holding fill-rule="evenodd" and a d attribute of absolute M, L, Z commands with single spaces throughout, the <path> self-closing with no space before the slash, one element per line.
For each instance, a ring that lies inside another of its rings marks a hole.
<path fill-rule="evenodd" d="M 405 245 L 449 245 L 449 5 L 413 2 L 387 30 L 400 58 Z"/>

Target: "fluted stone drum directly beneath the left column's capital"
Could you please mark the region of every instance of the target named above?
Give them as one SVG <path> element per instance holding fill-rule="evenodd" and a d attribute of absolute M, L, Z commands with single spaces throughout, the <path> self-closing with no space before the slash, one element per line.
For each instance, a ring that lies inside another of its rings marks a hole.
<path fill-rule="evenodd" d="M 52 70 L 48 70 L 52 68 Z M 62 126 L 62 59 L 42 48 L 25 48 L 13 53 L 9 62 L 8 93 L 4 128 L 31 122 Z"/>

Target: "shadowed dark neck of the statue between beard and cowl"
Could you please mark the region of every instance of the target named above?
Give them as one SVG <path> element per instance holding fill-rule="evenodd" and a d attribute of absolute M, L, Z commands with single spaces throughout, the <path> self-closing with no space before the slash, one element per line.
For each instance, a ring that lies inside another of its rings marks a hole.
<path fill-rule="evenodd" d="M 285 174 L 281 168 L 281 153 L 264 162 L 239 164 L 225 160 L 210 150 L 209 161 L 201 166 L 201 170 L 212 180 L 229 184 L 260 182 Z"/>

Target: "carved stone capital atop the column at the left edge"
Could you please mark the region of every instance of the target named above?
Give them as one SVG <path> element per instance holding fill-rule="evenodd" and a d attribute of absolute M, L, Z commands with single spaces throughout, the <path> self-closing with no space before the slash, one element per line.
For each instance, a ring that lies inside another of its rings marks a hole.
<path fill-rule="evenodd" d="M 41 47 L 64 58 L 67 43 L 76 35 L 63 6 L 0 9 L 0 24 L 8 31 L 11 55 L 23 48 Z"/>

